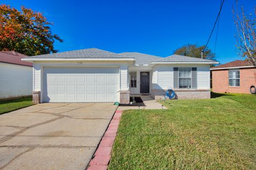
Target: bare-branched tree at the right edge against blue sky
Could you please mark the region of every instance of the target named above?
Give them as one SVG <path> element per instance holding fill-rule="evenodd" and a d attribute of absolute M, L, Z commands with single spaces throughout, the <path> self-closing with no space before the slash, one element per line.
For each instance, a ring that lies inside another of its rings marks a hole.
<path fill-rule="evenodd" d="M 256 9 L 246 15 L 243 6 L 241 10 L 234 10 L 234 23 L 236 26 L 236 41 L 240 55 L 245 57 L 250 64 L 256 66 Z"/>

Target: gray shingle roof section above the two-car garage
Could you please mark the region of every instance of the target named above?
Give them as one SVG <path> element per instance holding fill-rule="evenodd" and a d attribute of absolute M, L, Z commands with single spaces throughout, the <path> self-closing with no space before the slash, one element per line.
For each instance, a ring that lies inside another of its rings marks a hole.
<path fill-rule="evenodd" d="M 97 48 L 73 50 L 69 52 L 30 56 L 26 58 L 133 58 L 121 54 L 107 52 Z"/>

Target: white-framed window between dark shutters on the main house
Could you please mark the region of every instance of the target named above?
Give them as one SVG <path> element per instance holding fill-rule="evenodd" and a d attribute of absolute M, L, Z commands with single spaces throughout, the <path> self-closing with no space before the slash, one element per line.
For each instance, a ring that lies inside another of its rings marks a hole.
<path fill-rule="evenodd" d="M 191 67 L 179 67 L 179 88 L 191 88 Z"/>

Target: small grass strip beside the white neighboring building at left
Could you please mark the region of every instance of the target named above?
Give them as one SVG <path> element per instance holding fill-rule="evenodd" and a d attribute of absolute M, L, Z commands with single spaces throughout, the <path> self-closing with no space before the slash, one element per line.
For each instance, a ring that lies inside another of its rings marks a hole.
<path fill-rule="evenodd" d="M 31 97 L 0 101 L 0 115 L 31 105 L 33 105 Z"/>

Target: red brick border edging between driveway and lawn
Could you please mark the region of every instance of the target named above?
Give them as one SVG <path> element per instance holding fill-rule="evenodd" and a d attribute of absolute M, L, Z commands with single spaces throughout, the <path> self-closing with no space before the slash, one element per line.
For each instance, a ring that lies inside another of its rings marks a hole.
<path fill-rule="evenodd" d="M 122 111 L 116 111 L 104 133 L 99 147 L 95 151 L 87 170 L 106 170 L 111 158 L 111 150 L 116 139 L 117 129 L 120 122 Z"/>

